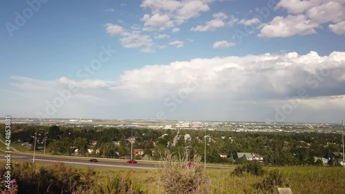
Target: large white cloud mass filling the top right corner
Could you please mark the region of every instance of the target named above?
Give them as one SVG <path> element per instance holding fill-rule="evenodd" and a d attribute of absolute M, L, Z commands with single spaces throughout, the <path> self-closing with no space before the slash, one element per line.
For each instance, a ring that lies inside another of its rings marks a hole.
<path fill-rule="evenodd" d="M 260 26 L 259 37 L 290 37 L 293 35 L 308 35 L 316 33 L 324 23 L 331 22 L 333 28 L 345 20 L 345 3 L 338 0 L 282 0 L 277 3 L 276 9 L 288 11 L 287 17 L 275 17 L 269 23 Z M 335 32 L 332 28 L 331 30 Z M 339 31 L 338 31 L 339 32 Z M 339 33 L 337 33 L 339 34 Z M 341 33 L 340 33 L 341 34 Z"/>

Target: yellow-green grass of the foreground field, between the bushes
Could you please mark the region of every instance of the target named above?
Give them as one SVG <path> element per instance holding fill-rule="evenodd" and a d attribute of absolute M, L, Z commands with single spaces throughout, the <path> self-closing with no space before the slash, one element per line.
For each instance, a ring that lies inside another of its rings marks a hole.
<path fill-rule="evenodd" d="M 17 163 L 17 162 L 16 162 Z M 20 162 L 19 162 L 20 163 Z M 36 164 L 39 167 L 46 164 Z M 78 167 L 86 171 L 87 168 Z M 266 171 L 277 169 L 286 178 L 294 194 L 305 193 L 345 193 L 345 168 L 323 166 L 286 166 L 269 167 Z M 97 184 L 104 185 L 118 177 L 131 180 L 135 188 L 144 193 L 162 193 L 158 171 L 126 170 L 126 169 L 95 169 Z M 237 177 L 231 169 L 206 170 L 206 177 L 210 181 L 211 193 L 264 193 L 255 188 L 255 184 L 262 182 L 264 176 L 243 175 Z"/>

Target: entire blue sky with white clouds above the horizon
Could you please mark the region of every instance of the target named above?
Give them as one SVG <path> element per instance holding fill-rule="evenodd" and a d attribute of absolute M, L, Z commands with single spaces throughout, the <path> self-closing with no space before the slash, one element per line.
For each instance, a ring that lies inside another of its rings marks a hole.
<path fill-rule="evenodd" d="M 0 14 L 0 117 L 345 117 L 344 0 L 7 0 Z"/>

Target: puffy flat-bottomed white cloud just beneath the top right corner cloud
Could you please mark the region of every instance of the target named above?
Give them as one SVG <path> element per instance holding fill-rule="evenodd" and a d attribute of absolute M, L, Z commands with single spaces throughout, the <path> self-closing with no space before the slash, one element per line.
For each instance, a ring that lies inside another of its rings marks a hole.
<path fill-rule="evenodd" d="M 259 37 L 290 37 L 293 35 L 308 35 L 316 33 L 317 23 L 307 19 L 305 15 L 288 15 L 288 17 L 275 17 L 270 23 L 263 26 Z"/>

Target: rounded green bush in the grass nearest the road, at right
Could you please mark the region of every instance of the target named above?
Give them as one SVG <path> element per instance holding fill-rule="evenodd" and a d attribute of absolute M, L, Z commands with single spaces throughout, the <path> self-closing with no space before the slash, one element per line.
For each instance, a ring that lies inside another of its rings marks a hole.
<path fill-rule="evenodd" d="M 242 166 L 237 166 L 235 170 L 233 171 L 233 174 L 237 176 L 242 176 L 246 173 L 255 175 L 255 176 L 264 175 L 265 171 L 264 171 L 263 164 L 256 160 L 247 161 Z"/>

